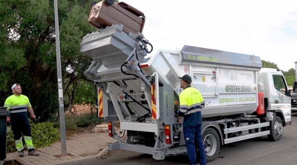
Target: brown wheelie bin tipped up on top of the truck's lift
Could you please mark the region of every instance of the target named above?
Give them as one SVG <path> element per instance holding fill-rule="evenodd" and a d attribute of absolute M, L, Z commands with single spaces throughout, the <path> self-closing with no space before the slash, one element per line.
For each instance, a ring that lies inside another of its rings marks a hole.
<path fill-rule="evenodd" d="M 126 33 L 142 32 L 145 24 L 144 13 L 125 2 L 110 3 L 102 0 L 92 5 L 88 22 L 97 28 L 105 28 L 112 24 L 122 24 Z"/>

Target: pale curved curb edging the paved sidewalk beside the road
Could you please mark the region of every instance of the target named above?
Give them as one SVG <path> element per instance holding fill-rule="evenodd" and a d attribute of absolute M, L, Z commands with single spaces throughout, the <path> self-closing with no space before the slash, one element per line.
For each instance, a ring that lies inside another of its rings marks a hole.
<path fill-rule="evenodd" d="M 78 160 L 70 160 L 70 161 L 64 161 L 60 163 L 54 163 L 50 165 L 81 165 L 83 163 L 90 163 L 94 162 L 96 160 L 100 160 L 103 155 L 105 155 L 108 152 L 108 146 L 105 146 L 97 155 L 89 157 L 89 158 L 82 158 Z"/>

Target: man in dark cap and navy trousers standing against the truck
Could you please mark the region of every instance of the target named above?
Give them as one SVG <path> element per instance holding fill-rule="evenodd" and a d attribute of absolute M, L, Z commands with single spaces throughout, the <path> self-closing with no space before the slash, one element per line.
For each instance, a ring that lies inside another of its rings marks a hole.
<path fill-rule="evenodd" d="M 201 93 L 191 87 L 192 78 L 185 74 L 180 78 L 178 117 L 183 117 L 183 136 L 186 141 L 189 164 L 196 165 L 196 147 L 199 150 L 200 165 L 206 165 L 204 144 L 201 135 L 201 109 L 205 106 Z M 195 145 L 196 143 L 196 145 Z"/>

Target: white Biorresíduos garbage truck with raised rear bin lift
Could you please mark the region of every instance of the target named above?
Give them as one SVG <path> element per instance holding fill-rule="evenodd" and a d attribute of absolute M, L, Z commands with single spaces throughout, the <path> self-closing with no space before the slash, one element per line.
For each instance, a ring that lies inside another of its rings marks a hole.
<path fill-rule="evenodd" d="M 177 117 L 178 77 L 184 74 L 205 101 L 202 136 L 208 162 L 218 157 L 221 145 L 261 136 L 281 139 L 283 127 L 291 124 L 291 98 L 280 70 L 262 68 L 259 56 L 188 45 L 148 55 L 153 47 L 142 28 L 129 30 L 124 27 L 131 24 L 121 20 L 96 26 L 81 42 L 81 52 L 93 60 L 83 75 L 98 87 L 98 117 L 109 121 L 109 136 L 117 140 L 108 143 L 109 150 L 150 154 L 155 160 L 187 153 L 183 118 Z M 122 134 L 115 131 L 115 121 Z"/>

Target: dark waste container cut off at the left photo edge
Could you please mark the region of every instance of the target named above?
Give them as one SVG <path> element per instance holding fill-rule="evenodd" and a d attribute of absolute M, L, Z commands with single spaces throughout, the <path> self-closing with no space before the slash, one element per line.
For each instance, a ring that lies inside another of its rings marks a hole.
<path fill-rule="evenodd" d="M 0 107 L 0 162 L 6 158 L 6 118 L 9 116 L 6 107 Z"/>

